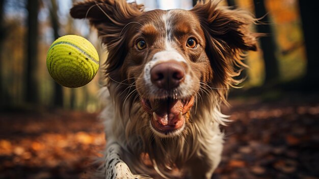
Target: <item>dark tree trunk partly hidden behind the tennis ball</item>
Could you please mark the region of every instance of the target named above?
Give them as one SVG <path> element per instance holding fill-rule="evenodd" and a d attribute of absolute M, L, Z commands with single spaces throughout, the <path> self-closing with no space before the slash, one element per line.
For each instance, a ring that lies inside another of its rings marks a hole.
<path fill-rule="evenodd" d="M 50 7 L 50 17 L 51 17 L 51 25 L 54 31 L 55 39 L 60 37 L 59 35 L 59 19 L 58 19 L 58 7 L 56 0 L 51 0 L 51 7 Z M 54 106 L 56 107 L 63 107 L 63 89 L 62 86 L 55 82 L 55 94 L 54 97 Z"/>

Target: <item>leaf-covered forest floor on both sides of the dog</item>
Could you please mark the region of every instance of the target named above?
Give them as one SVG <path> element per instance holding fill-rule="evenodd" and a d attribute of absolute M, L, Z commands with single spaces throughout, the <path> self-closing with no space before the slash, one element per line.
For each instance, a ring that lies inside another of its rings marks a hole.
<path fill-rule="evenodd" d="M 214 179 L 319 178 L 319 100 L 230 100 L 225 147 Z M 101 156 L 97 114 L 32 109 L 0 112 L 0 178 L 80 178 Z"/>

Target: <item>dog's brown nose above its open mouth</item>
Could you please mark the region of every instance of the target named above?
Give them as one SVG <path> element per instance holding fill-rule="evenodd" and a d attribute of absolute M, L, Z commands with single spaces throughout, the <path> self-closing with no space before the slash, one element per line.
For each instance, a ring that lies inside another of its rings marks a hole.
<path fill-rule="evenodd" d="M 170 90 L 179 86 L 185 75 L 184 67 L 178 62 L 163 62 L 152 67 L 151 82 L 158 88 Z"/>

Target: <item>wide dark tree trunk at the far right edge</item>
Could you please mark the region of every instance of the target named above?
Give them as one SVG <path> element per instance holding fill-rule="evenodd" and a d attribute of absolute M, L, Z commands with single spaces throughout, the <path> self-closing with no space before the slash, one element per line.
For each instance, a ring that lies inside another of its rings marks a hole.
<path fill-rule="evenodd" d="M 317 7 L 310 1 L 299 0 L 300 15 L 302 20 L 302 29 L 304 31 L 304 39 L 307 54 L 307 72 L 305 83 L 308 85 L 318 86 L 319 80 L 319 59 L 317 55 L 317 47 L 319 40 L 319 28 L 317 18 Z M 308 86 L 307 85 L 307 86 Z M 310 87 L 310 86 L 308 86 Z"/>

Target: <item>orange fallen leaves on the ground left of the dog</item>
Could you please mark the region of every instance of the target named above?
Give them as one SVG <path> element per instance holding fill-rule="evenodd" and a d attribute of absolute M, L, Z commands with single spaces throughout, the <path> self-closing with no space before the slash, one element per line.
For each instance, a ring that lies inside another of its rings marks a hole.
<path fill-rule="evenodd" d="M 6 114 L 0 120 L 5 124 L 0 126 L 5 136 L 0 138 L 0 178 L 79 178 L 105 145 L 96 114 Z"/>

